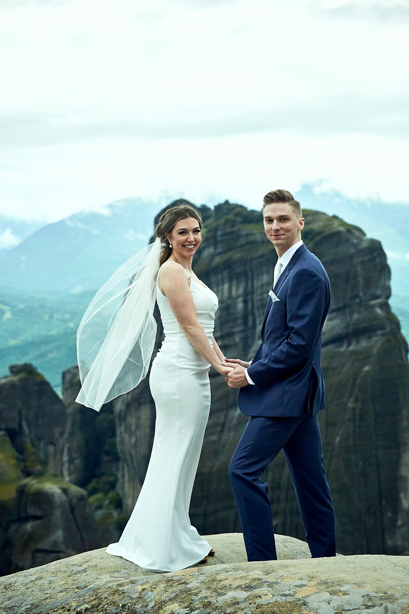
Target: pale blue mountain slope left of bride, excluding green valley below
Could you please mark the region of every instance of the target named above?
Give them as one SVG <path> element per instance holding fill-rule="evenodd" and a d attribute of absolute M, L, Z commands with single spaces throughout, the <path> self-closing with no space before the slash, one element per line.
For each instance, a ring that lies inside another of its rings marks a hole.
<path fill-rule="evenodd" d="M 147 244 L 158 208 L 128 198 L 45 225 L 0 258 L 0 287 L 41 295 L 98 288 Z"/>

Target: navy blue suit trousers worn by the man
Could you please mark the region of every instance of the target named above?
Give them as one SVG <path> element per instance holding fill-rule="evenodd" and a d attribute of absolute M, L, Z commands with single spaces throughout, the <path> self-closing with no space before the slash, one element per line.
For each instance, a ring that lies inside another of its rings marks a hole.
<path fill-rule="evenodd" d="M 312 557 L 335 556 L 335 512 L 317 417 L 250 416 L 229 465 L 248 561 L 277 559 L 269 487 L 260 476 L 281 449 Z"/>

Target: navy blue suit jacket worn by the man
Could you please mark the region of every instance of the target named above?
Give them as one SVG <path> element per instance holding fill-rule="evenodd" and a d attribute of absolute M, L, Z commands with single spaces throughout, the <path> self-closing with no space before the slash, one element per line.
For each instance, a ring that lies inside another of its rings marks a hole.
<path fill-rule="evenodd" d="M 321 337 L 331 302 L 329 279 L 318 258 L 300 246 L 269 298 L 261 344 L 240 388 L 239 408 L 248 416 L 314 415 L 325 405 Z"/>

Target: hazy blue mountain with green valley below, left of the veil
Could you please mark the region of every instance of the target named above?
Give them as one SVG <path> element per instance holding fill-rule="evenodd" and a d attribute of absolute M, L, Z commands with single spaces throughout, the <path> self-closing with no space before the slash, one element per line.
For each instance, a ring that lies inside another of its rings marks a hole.
<path fill-rule="evenodd" d="M 0 376 L 32 362 L 59 391 L 96 290 L 145 247 L 158 203 L 137 198 L 39 228 L 0 256 Z"/>

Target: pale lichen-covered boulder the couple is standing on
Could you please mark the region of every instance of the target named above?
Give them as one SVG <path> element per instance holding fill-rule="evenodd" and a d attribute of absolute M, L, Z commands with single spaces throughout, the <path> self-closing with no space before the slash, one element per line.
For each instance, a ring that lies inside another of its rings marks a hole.
<path fill-rule="evenodd" d="M 241 534 L 210 535 L 215 557 L 174 573 L 148 572 L 104 549 L 78 554 L 1 578 L 0 608 L 13 614 L 408 612 L 408 557 L 309 559 L 307 544 L 276 538 L 278 561 L 249 563 Z"/>

